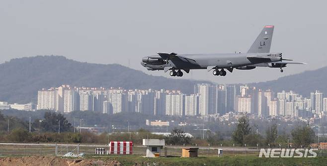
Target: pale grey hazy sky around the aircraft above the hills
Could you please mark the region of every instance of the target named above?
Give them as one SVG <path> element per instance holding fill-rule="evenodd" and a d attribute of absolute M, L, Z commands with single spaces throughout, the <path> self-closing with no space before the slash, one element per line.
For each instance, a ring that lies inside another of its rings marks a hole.
<path fill-rule="evenodd" d="M 143 56 L 247 52 L 264 25 L 275 25 L 271 52 L 307 62 L 278 68 L 206 70 L 183 78 L 249 83 L 327 65 L 325 0 L 1 0 L 0 62 L 63 55 L 91 63 L 119 63 L 148 74 Z M 181 79 L 178 77 L 178 79 Z"/>

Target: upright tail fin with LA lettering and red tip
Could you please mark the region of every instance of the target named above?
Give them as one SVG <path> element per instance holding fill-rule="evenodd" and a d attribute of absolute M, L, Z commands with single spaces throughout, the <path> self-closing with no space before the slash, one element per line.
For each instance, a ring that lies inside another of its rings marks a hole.
<path fill-rule="evenodd" d="M 269 53 L 273 32 L 273 25 L 264 26 L 247 53 Z"/>

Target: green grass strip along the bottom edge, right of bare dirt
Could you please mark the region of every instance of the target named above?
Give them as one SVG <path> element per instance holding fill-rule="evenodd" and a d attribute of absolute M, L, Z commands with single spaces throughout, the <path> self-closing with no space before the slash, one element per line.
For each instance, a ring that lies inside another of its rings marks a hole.
<path fill-rule="evenodd" d="M 123 166 L 327 166 L 327 157 L 258 158 L 255 155 L 197 158 L 144 158 L 130 156 L 86 156 L 86 159 L 117 160 Z M 149 165 L 148 165 L 149 164 Z"/>

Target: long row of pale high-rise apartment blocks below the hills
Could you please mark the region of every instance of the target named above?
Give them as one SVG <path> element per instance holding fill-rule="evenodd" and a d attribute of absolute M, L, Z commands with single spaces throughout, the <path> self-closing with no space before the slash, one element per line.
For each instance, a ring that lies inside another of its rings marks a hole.
<path fill-rule="evenodd" d="M 36 110 L 95 111 L 107 114 L 139 112 L 153 115 L 210 116 L 228 112 L 256 117 L 325 118 L 327 97 L 315 91 L 310 97 L 296 92 L 274 92 L 247 85 L 196 84 L 193 94 L 173 90 L 60 87 L 38 91 Z M 33 110 L 33 104 L 0 103 L 3 109 Z"/>

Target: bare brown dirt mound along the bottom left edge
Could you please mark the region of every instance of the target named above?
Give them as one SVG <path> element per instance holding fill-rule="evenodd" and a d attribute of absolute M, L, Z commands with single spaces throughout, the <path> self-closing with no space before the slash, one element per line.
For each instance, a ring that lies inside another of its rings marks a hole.
<path fill-rule="evenodd" d="M 33 156 L 0 158 L 0 166 L 122 166 L 117 161 L 62 159 L 60 157 Z"/>

